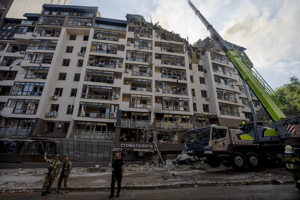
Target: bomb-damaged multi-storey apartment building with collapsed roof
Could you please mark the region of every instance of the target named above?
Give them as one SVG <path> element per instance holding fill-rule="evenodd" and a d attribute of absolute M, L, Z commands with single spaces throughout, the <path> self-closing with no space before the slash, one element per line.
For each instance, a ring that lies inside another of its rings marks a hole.
<path fill-rule="evenodd" d="M 241 78 L 213 39 L 190 45 L 141 15 L 108 19 L 98 7 L 44 4 L 24 17 L 1 22 L 3 160 L 47 150 L 110 161 L 117 149 L 128 161 L 164 159 L 184 150 L 190 129 L 252 119 Z"/>

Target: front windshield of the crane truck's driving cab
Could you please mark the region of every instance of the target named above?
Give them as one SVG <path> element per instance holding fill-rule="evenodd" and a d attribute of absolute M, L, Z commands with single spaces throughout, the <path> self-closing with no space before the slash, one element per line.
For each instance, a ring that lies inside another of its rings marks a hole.
<path fill-rule="evenodd" d="M 207 142 L 210 138 L 211 126 L 190 130 L 187 133 L 186 142 Z"/>

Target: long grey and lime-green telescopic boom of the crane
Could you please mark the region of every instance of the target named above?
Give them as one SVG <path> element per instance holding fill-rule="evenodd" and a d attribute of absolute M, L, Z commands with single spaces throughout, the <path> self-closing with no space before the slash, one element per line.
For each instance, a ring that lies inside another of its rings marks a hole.
<path fill-rule="evenodd" d="M 189 6 L 196 13 L 197 17 L 202 21 L 210 34 L 214 37 L 216 42 L 220 45 L 222 50 L 231 59 L 232 63 L 237 68 L 239 75 L 246 81 L 249 87 L 256 94 L 257 98 L 263 104 L 273 121 L 287 119 L 282 110 L 287 108 L 283 101 L 276 95 L 276 92 L 264 81 L 261 75 L 254 69 L 252 64 L 247 61 L 241 53 L 232 49 L 219 33 L 212 27 L 212 25 L 204 18 L 199 10 L 192 4 L 191 1 L 186 0 Z M 255 113 L 254 113 L 255 114 Z"/>

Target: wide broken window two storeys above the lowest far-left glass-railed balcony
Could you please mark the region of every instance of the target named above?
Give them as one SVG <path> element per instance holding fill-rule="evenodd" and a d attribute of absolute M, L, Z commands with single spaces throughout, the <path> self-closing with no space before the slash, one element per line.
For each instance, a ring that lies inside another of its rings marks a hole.
<path fill-rule="evenodd" d="M 45 83 L 15 82 L 10 95 L 41 96 Z"/>

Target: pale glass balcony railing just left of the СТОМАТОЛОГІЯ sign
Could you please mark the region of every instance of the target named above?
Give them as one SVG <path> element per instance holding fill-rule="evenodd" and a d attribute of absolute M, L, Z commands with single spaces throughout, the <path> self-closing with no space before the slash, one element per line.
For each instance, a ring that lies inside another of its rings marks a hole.
<path fill-rule="evenodd" d="M 73 129 L 70 138 L 86 138 L 98 140 L 114 140 L 115 132 Z"/>

